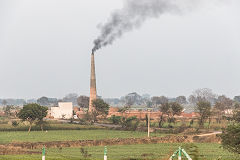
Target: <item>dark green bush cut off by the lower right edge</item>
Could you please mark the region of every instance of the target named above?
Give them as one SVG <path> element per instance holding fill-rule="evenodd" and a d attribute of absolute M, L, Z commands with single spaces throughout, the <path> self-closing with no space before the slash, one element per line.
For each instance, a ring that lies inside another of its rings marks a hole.
<path fill-rule="evenodd" d="M 229 125 L 220 135 L 223 148 L 240 154 L 240 124 Z"/>

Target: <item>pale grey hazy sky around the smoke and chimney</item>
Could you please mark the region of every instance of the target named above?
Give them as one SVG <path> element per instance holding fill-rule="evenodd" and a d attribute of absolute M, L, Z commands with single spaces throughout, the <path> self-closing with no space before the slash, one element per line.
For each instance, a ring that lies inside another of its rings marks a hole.
<path fill-rule="evenodd" d="M 0 98 L 88 95 L 97 25 L 123 1 L 0 0 Z M 239 15 L 228 0 L 146 21 L 96 53 L 98 94 L 240 95 Z"/>

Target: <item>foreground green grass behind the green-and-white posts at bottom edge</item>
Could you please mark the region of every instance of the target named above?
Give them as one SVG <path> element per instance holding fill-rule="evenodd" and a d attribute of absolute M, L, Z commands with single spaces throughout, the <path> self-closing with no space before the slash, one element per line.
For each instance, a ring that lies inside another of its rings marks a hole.
<path fill-rule="evenodd" d="M 199 152 L 200 160 L 234 160 L 240 159 L 239 156 L 234 155 L 226 150 L 220 148 L 220 144 L 194 144 Z M 171 154 L 182 146 L 189 154 L 191 152 L 187 149 L 186 144 L 179 143 L 162 143 L 162 144 L 141 144 L 141 145 L 119 145 L 108 146 L 108 159 L 120 160 L 120 159 L 169 159 Z M 85 147 L 88 154 L 91 157 L 88 159 L 103 159 L 103 146 L 97 147 Z M 62 149 L 47 149 L 46 159 L 48 160 L 79 160 L 84 159 L 80 148 L 62 148 Z M 41 155 L 4 155 L 0 156 L 0 159 L 6 160 L 38 160 L 41 159 Z"/>

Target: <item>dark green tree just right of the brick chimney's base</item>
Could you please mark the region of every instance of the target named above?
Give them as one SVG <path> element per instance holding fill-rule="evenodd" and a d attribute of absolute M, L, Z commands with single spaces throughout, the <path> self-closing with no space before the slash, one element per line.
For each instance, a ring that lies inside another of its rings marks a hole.
<path fill-rule="evenodd" d="M 103 117 L 108 115 L 109 104 L 105 103 L 102 99 L 95 99 L 92 101 L 94 111 L 92 112 L 93 120 L 97 121 L 97 116 L 101 115 Z"/>

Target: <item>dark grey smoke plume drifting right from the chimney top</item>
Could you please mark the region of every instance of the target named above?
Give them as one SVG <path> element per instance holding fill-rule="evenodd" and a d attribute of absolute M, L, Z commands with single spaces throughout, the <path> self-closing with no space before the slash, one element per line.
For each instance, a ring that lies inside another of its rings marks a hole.
<path fill-rule="evenodd" d="M 206 0 L 125 0 L 122 9 L 113 12 L 105 24 L 100 24 L 100 35 L 94 40 L 93 52 L 112 44 L 124 33 L 140 27 L 149 18 L 191 10 L 204 1 Z M 220 0 L 206 3 L 214 1 Z"/>

